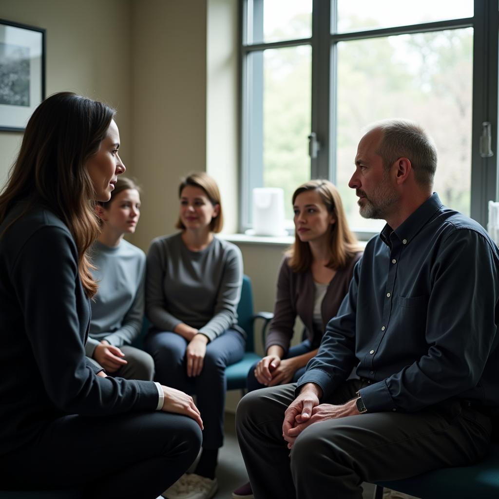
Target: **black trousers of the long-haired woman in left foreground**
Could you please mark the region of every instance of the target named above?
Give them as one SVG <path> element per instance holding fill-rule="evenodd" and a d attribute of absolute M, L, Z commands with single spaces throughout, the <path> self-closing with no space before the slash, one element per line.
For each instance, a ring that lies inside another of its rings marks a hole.
<path fill-rule="evenodd" d="M 164 412 L 50 422 L 35 442 L 0 457 L 1 488 L 78 488 L 92 499 L 155 499 L 196 459 L 201 429 Z"/>

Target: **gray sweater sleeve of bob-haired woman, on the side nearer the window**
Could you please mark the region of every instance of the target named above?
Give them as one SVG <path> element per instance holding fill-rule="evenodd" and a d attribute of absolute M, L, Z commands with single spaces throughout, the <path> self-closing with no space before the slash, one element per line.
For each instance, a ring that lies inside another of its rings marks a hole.
<path fill-rule="evenodd" d="M 232 246 L 227 250 L 222 270 L 222 281 L 217 295 L 215 314 L 199 329 L 210 341 L 229 329 L 237 319 L 237 307 L 243 285 L 243 256 L 241 250 Z"/>

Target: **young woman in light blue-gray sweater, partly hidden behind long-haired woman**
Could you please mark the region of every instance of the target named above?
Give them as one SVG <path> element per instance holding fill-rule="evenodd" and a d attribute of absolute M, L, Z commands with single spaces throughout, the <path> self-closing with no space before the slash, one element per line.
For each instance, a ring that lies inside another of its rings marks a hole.
<path fill-rule="evenodd" d="M 92 300 L 85 353 L 110 376 L 152 381 L 152 357 L 130 346 L 142 330 L 146 255 L 123 236 L 133 234 L 139 221 L 139 187 L 119 177 L 111 199 L 100 202 L 97 212 L 102 228 L 89 255 L 99 290 Z"/>

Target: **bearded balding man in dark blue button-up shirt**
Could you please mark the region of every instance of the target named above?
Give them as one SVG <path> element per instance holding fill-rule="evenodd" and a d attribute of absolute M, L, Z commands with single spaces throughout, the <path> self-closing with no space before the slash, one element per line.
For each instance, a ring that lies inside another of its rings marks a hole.
<path fill-rule="evenodd" d="M 432 194 L 436 166 L 414 123 L 380 122 L 361 139 L 349 186 L 360 214 L 387 224 L 298 383 L 238 407 L 255 498 L 360 499 L 363 481 L 486 453 L 499 407 L 498 248 Z"/>

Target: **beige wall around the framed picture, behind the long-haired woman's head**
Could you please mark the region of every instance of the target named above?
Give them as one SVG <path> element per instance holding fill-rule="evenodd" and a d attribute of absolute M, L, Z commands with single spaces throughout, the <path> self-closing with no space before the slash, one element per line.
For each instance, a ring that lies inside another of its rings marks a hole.
<path fill-rule="evenodd" d="M 1 0 L 0 18 L 46 29 L 46 94 L 72 90 L 118 109 L 130 154 L 131 0 Z M 0 132 L 0 185 L 21 133 Z"/>

